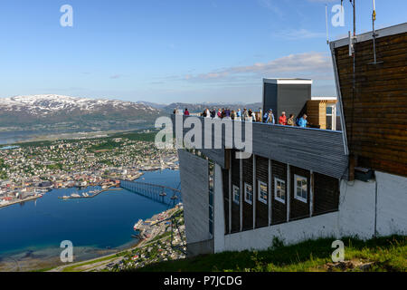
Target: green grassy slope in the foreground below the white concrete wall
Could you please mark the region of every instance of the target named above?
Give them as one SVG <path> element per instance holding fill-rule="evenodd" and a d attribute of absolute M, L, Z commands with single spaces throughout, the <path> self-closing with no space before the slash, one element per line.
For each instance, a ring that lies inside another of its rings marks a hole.
<path fill-rule="evenodd" d="M 355 237 L 344 237 L 342 241 L 345 244 L 345 260 L 374 262 L 370 271 L 405 272 L 406 239 L 405 236 L 392 236 L 363 241 Z M 145 266 L 137 271 L 327 271 L 326 265 L 332 263 L 331 255 L 335 250 L 331 247 L 334 240 L 336 238 L 319 238 L 287 247 L 275 241 L 274 247 L 265 251 L 196 256 Z M 358 267 L 346 270 L 360 271 Z"/>

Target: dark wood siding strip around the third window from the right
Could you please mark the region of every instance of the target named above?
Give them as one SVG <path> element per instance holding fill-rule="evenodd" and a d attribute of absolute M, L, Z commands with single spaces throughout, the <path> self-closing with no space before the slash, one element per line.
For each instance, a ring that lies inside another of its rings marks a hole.
<path fill-rule="evenodd" d="M 260 156 L 256 156 L 256 182 L 260 180 L 269 187 L 269 160 Z M 259 192 L 259 184 L 256 184 Z M 261 202 L 256 192 L 256 227 L 267 227 L 269 225 L 269 200 L 267 204 Z"/>

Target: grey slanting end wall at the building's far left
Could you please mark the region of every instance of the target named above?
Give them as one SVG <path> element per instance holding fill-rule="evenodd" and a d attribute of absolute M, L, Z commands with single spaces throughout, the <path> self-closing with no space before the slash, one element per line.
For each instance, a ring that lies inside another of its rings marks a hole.
<path fill-rule="evenodd" d="M 187 244 L 211 239 L 208 160 L 178 150 Z"/>

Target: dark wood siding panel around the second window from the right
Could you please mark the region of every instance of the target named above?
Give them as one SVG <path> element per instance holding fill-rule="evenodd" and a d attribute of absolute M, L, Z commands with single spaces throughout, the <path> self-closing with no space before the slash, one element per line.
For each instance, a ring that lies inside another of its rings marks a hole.
<path fill-rule="evenodd" d="M 274 178 L 278 178 L 281 180 L 286 181 L 286 189 L 287 189 L 287 164 L 278 162 L 278 161 L 271 161 L 271 225 L 284 223 L 287 221 L 287 200 L 286 203 L 283 204 L 276 200 L 274 197 Z M 286 192 L 286 199 L 288 198 L 288 193 Z"/>

